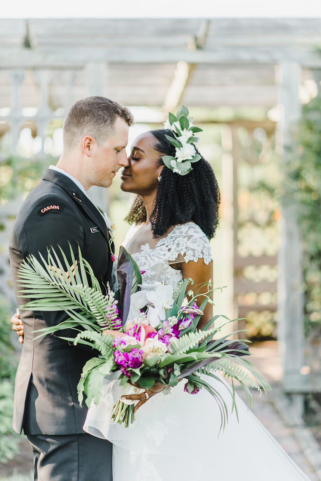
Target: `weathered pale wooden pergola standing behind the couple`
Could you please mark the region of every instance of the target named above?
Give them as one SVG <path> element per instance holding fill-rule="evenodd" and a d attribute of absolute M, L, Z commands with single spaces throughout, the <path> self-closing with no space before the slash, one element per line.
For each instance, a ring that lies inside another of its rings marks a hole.
<path fill-rule="evenodd" d="M 139 121 L 149 124 L 163 122 L 168 111 L 185 104 L 195 109 L 198 123 L 229 125 L 232 141 L 225 142 L 223 184 L 225 214 L 234 232 L 227 241 L 234 271 L 250 263 L 278 263 L 284 388 L 297 393 L 320 391 L 321 372 L 301 370 L 306 361 L 296 212 L 293 206 L 282 207 L 278 259 L 238 256 L 234 127 L 261 127 L 268 135 L 276 129 L 283 152 L 291 142 L 289 128 L 300 117 L 298 95 L 309 101 L 311 85 L 320 88 L 320 43 L 321 19 L 0 20 L 0 136 L 11 131 L 13 151 L 23 126 L 44 138 L 48 121 L 87 95 L 148 107 Z M 270 111 L 270 118 L 233 123 L 220 118 L 221 107 L 260 108 Z M 235 278 L 235 292 L 258 289 L 242 287 L 242 282 Z M 276 290 L 275 283 L 264 287 Z M 246 314 L 246 306 L 236 308 L 236 314 Z"/>

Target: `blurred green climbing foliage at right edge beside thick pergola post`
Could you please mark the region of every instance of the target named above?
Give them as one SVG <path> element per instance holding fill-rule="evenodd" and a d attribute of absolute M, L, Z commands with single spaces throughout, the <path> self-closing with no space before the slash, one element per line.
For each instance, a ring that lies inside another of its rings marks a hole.
<path fill-rule="evenodd" d="M 298 205 L 302 237 L 305 328 L 321 325 L 321 97 L 303 107 L 286 162 L 287 198 Z"/>

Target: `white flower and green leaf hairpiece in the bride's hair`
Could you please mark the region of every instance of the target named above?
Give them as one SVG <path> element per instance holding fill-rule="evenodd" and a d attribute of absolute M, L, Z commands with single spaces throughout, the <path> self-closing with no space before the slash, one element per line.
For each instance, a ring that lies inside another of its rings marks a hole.
<path fill-rule="evenodd" d="M 176 153 L 175 157 L 164 155 L 162 161 L 173 172 L 185 176 L 192 170 L 192 163 L 198 162 L 201 158 L 192 142 L 198 141 L 199 137 L 195 137 L 194 134 L 202 132 L 202 129 L 193 125 L 193 117 L 188 116 L 188 109 L 185 105 L 178 109 L 176 116 L 171 112 L 168 114 L 164 128 L 173 131 L 174 137 L 170 135 L 165 135 L 165 137 L 173 144 Z"/>

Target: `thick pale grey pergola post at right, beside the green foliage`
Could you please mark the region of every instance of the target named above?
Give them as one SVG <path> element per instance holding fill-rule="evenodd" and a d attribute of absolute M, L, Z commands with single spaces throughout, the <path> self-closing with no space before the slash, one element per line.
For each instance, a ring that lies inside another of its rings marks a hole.
<path fill-rule="evenodd" d="M 277 137 L 280 153 L 287 162 L 291 147 L 291 126 L 301 115 L 298 101 L 298 85 L 301 67 L 296 62 L 283 62 L 278 66 L 279 102 L 282 118 L 278 123 Z M 281 239 L 278 256 L 278 338 L 283 361 L 283 383 L 285 392 L 302 392 L 303 377 L 303 292 L 301 244 L 297 224 L 296 205 L 282 202 Z M 303 396 L 296 394 L 292 399 L 296 413 L 302 414 Z"/>

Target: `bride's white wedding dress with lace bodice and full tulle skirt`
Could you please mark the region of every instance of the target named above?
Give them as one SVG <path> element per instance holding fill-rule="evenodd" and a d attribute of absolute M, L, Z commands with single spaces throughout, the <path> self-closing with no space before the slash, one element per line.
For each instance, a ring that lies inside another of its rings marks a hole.
<path fill-rule="evenodd" d="M 135 226 L 129 229 L 124 247 L 135 232 Z M 194 223 L 176 226 L 154 249 L 145 244 L 133 257 L 146 271 L 144 281 L 173 285 L 182 275 L 171 263 L 212 259 L 209 241 Z M 113 423 L 111 409 L 121 392 L 117 377 L 105 378 L 102 399 L 97 407 L 92 404 L 84 425 L 86 432 L 113 443 L 113 481 L 309 481 L 236 395 L 237 421 L 223 377 L 208 381 L 229 409 L 219 436 L 221 414 L 214 398 L 205 390 L 184 392 L 184 381 L 169 395 L 150 398 L 128 428 Z"/>

